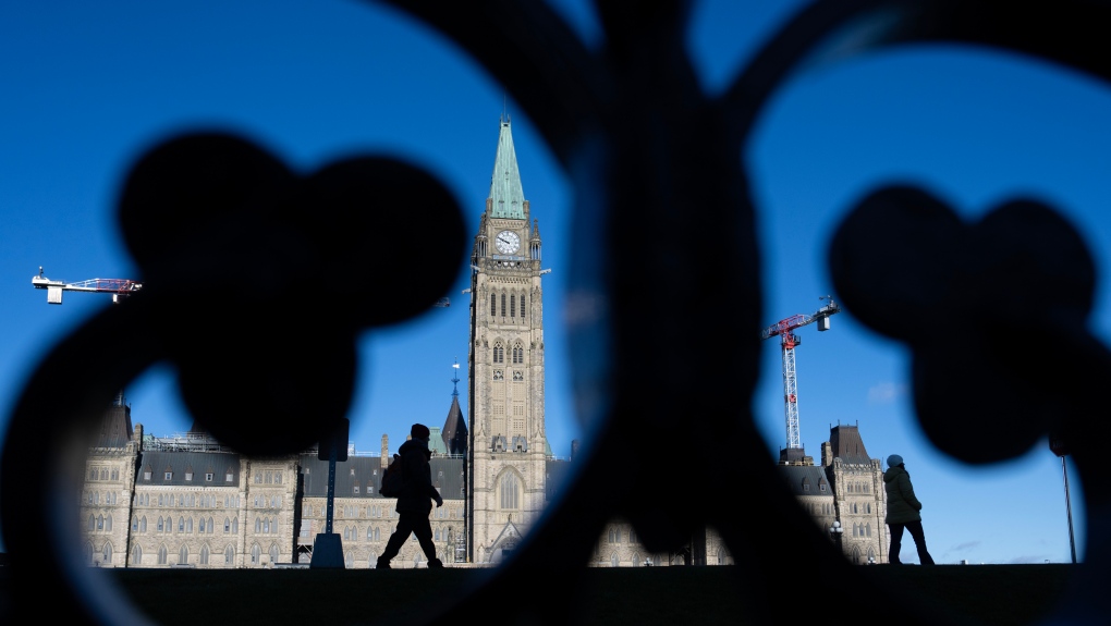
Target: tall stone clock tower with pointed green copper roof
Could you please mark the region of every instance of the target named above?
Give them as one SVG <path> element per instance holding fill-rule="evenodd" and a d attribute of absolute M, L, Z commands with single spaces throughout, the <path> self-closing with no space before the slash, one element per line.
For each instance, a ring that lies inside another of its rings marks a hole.
<path fill-rule="evenodd" d="M 544 331 L 540 230 L 530 222 L 508 119 L 471 252 L 468 536 L 497 563 L 544 505 Z"/>

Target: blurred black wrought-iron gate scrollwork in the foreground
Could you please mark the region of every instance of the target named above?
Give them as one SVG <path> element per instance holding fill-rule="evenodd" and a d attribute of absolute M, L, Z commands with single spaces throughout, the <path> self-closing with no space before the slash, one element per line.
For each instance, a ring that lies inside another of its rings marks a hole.
<path fill-rule="evenodd" d="M 681 545 L 695 527 L 717 527 L 738 562 L 737 594 L 748 599 L 754 622 L 771 622 L 781 613 L 773 604 L 770 582 L 800 572 L 815 580 L 838 580 L 839 586 L 881 584 L 865 568 L 845 563 L 795 506 L 767 462 L 752 420 L 762 291 L 753 225 L 757 208 L 743 162 L 749 132 L 777 89 L 803 63 L 822 60 L 834 41 L 852 42 L 858 53 L 908 42 L 982 44 L 1107 81 L 1111 57 L 1104 53 L 1103 29 L 1111 23 L 1111 6 L 1082 0 L 1022 6 L 987 0 L 819 1 L 777 33 L 722 95 L 711 97 L 701 91 L 683 46 L 690 2 L 598 0 L 604 31 L 604 47 L 598 52 L 588 50 L 539 1 L 389 3 L 439 29 L 492 72 L 528 113 L 574 186 L 572 239 L 577 248 L 571 255 L 568 323 L 577 405 L 582 407 L 580 418 L 593 428 L 589 457 L 579 464 L 573 485 L 546 514 L 528 544 L 484 586 L 451 606 L 439 607 L 429 620 L 447 622 L 461 613 L 483 615 L 498 598 L 533 597 L 537 578 L 528 574 L 542 572 L 542 593 L 551 599 L 549 612 L 520 615 L 520 620 L 575 622 L 573 600 L 580 589 L 574 573 L 587 563 L 603 524 L 615 516 L 630 519 L 650 551 Z M 837 52 L 844 53 L 844 47 Z M 44 523 L 56 506 L 51 476 L 57 472 L 50 464 L 59 460 L 42 456 L 41 448 L 28 442 L 66 436 L 82 415 L 96 414 L 112 390 L 154 361 L 168 360 L 182 372 L 190 410 L 229 443 L 247 452 L 300 450 L 319 432 L 297 431 L 262 442 L 250 438 L 249 425 L 229 420 L 230 412 L 221 404 L 226 396 L 207 390 L 221 384 L 221 376 L 232 370 L 257 372 L 247 382 L 261 388 L 280 384 L 304 391 L 329 385 L 340 402 L 312 410 L 322 422 L 342 414 L 353 380 L 354 333 L 416 315 L 431 305 L 454 275 L 464 246 L 462 222 L 450 194 L 429 174 L 389 159 L 344 162 L 299 179 L 276 158 L 241 140 L 194 135 L 157 149 L 129 180 L 121 225 L 144 282 L 164 286 L 144 290 L 127 306 L 98 315 L 47 357 L 12 415 L 0 474 L 4 494 L 0 513 L 13 566 L 33 573 L 21 574 L 20 583 L 58 589 L 74 599 L 59 603 L 71 605 L 74 623 L 111 617 L 106 617 L 104 602 L 90 592 L 92 583 L 81 576 L 80 567 L 69 564 L 78 551 L 59 541 Z M 184 211 L 171 211 L 176 220 L 171 221 L 150 211 L 171 198 L 168 184 L 178 185 L 186 195 L 207 194 L 188 201 L 189 206 L 211 206 L 209 214 L 189 221 L 192 218 Z M 396 312 L 391 307 L 397 303 L 376 300 L 370 290 L 350 307 L 317 301 L 318 309 L 310 310 L 287 300 L 290 276 L 303 275 L 304 267 L 327 272 L 333 254 L 350 255 L 344 263 L 369 262 L 366 255 L 370 253 L 353 245 L 350 238 L 372 236 L 379 226 L 372 222 L 352 225 L 360 212 L 349 209 L 411 190 L 423 194 L 429 210 L 442 211 L 447 225 L 439 236 L 450 242 L 443 248 L 451 251 L 429 260 L 422 269 L 432 279 L 421 306 L 390 316 L 387 313 Z M 309 203 L 327 204 L 332 211 L 327 219 L 306 219 L 302 208 Z M 900 233 L 898 245 L 883 246 L 877 241 L 882 243 L 884 238 L 868 236 L 878 228 L 877 220 L 884 221 L 889 234 Z M 717 224 L 724 245 L 708 250 L 693 238 L 672 236 L 693 232 L 705 222 Z M 247 236 L 257 229 L 264 236 Z M 962 259 L 925 263 L 908 255 L 915 246 L 929 245 L 931 236 L 983 243 L 978 258 L 983 273 L 968 276 L 954 271 Z M 138 243 L 143 241 L 158 244 Z M 243 241 L 249 242 L 246 248 Z M 662 241 L 670 244 L 652 244 Z M 641 271 L 611 272 L 615 264 L 607 261 L 622 258 L 639 259 Z M 1053 432 L 1071 446 L 1085 482 L 1097 483 L 1097 447 L 1108 441 L 1109 426 L 1100 420 L 1097 398 L 1071 394 L 1074 383 L 1065 385 L 1055 366 L 1083 363 L 1068 371 L 1092 376 L 1092 387 L 1099 388 L 1095 383 L 1111 373 L 1111 356 L 1084 330 L 1094 274 L 1090 254 L 1057 213 L 1015 200 L 969 225 L 925 190 L 891 186 L 877 191 L 845 219 L 834 235 L 830 258 L 847 309 L 913 351 L 919 420 L 939 448 L 970 463 L 991 463 L 1013 457 Z M 873 271 L 890 266 L 892 258 L 904 264 L 904 273 L 915 284 L 929 284 L 931 293 L 947 294 L 927 304 L 932 306 L 933 319 L 941 319 L 957 334 L 932 341 L 937 337 L 918 334 L 912 320 L 890 321 L 885 314 L 890 303 L 913 297 L 900 281 Z M 219 283 L 221 275 L 243 264 L 272 280 L 239 284 L 236 290 Z M 1062 289 L 1060 280 L 1073 289 Z M 975 315 L 998 312 L 1000 302 L 963 297 L 992 281 L 1020 294 L 1002 302 L 1014 306 L 1009 312 L 1021 312 L 1013 317 L 1014 327 L 1022 331 L 1025 350 L 1039 362 L 1029 368 L 1005 360 L 994 363 L 991 375 L 1002 388 L 1013 390 L 1014 401 L 1005 406 L 1015 427 L 1005 433 L 1004 445 L 983 450 L 965 445 L 959 431 L 988 427 L 982 414 L 953 410 L 974 407 L 974 392 L 948 376 L 959 372 L 951 370 L 960 362 L 955 341 L 962 342 L 962 351 L 970 344 L 984 353 L 1000 349 L 991 333 L 962 327 Z M 230 305 L 217 312 L 189 302 L 198 289 L 211 290 L 212 296 L 227 299 Z M 728 316 L 703 321 L 718 341 L 713 345 L 682 341 L 679 325 L 671 323 L 678 307 L 643 306 L 641 294 L 649 291 L 661 303 L 728 310 Z M 722 300 L 731 305 L 723 309 Z M 260 303 L 271 310 L 276 303 L 291 304 L 283 314 L 289 341 L 322 370 L 268 350 L 259 337 L 248 336 L 246 343 L 232 340 Z M 188 341 L 169 332 L 180 330 L 181 306 L 200 322 L 197 332 L 187 334 Z M 109 333 L 126 333 L 129 347 L 104 354 L 97 337 Z M 728 357 L 727 351 L 718 350 L 722 344 L 731 346 Z M 198 366 L 211 364 L 214 353 L 227 365 L 216 371 Z M 707 364 L 698 380 L 680 366 L 691 357 Z M 668 385 L 638 377 L 638 365 L 649 360 L 664 368 Z M 62 396 L 58 388 L 81 392 Z M 289 416 L 289 407 L 269 408 Z M 1085 436 L 1077 436 L 1078 432 Z M 712 436 L 735 445 L 728 455 L 702 460 L 707 475 L 717 476 L 715 481 L 691 484 L 659 472 L 640 454 L 664 436 L 680 441 Z M 747 506 L 759 508 L 763 516 L 759 539 L 745 529 L 751 521 L 723 501 L 721 483 L 747 486 Z M 27 503 L 32 515 L 27 514 Z M 1111 577 L 1111 546 L 1108 533 L 1102 532 L 1111 525 L 1107 496 L 1088 494 L 1087 515 L 1090 541 L 1084 576 L 1073 585 L 1054 620 L 1102 620 L 1095 606 L 1099 582 Z M 63 584 L 58 585 L 59 580 Z M 939 624 L 959 618 L 889 592 L 872 595 L 851 619 L 899 615 L 904 623 Z M 809 598 L 814 606 L 805 606 Z M 850 619 L 827 612 L 824 604 L 817 604 L 819 596 L 803 595 L 797 600 L 792 608 L 800 614 L 810 608 L 833 622 Z M 908 610 L 907 603 L 915 609 Z"/>

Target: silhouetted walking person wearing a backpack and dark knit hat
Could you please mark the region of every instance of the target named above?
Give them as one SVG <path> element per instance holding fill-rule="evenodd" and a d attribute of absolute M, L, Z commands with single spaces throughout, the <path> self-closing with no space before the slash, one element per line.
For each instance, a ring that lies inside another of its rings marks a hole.
<path fill-rule="evenodd" d="M 432 456 L 428 450 L 428 426 L 413 424 L 409 434 L 412 438 L 401 444 L 401 450 L 398 451 L 401 458 L 397 463 L 401 464 L 401 475 L 404 479 L 401 495 L 398 496 L 398 529 L 386 544 L 386 552 L 378 557 L 380 569 L 390 568 L 390 559 L 398 555 L 410 533 L 417 535 L 417 541 L 428 557 L 428 566 L 443 567 L 443 563 L 436 557 L 432 525 L 428 519 L 429 513 L 432 512 L 432 501 L 436 501 L 437 506 L 443 506 L 443 498 L 432 486 L 432 470 L 428 465 L 428 460 Z"/>

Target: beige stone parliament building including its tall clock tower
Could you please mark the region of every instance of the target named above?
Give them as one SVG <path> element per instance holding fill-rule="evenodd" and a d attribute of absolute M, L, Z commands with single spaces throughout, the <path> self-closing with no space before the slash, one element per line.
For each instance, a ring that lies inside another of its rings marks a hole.
<path fill-rule="evenodd" d="M 437 554 L 451 566 L 509 556 L 558 493 L 571 461 L 556 458 L 544 433 L 544 344 L 539 221 L 521 185 L 511 127 L 502 120 L 490 195 L 471 253 L 470 420 L 458 390 L 442 428 L 431 428 Z M 154 437 L 132 426 L 119 394 L 90 442 L 80 497 L 84 558 L 100 567 L 273 567 L 308 563 L 327 514 L 328 463 L 316 451 L 248 457 L 193 430 Z M 396 499 L 379 494 L 391 457 L 337 463 L 333 532 L 348 568 L 374 567 L 397 526 Z M 820 465 L 801 448 L 780 455 L 781 475 L 815 523 L 852 563 L 887 563 L 883 477 L 857 426 L 830 428 Z M 651 554 L 614 521 L 590 565 L 724 565 L 732 557 L 707 528 L 683 554 Z M 393 567 L 422 567 L 410 537 Z"/>

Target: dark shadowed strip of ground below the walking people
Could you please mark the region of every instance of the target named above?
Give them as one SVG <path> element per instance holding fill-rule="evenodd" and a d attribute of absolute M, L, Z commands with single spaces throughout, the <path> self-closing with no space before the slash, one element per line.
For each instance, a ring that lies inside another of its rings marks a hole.
<path fill-rule="evenodd" d="M 1074 565 L 887 565 L 868 568 L 871 588 L 847 588 L 799 572 L 770 584 L 782 613 L 775 624 L 853 623 L 870 598 L 892 588 L 939 607 L 954 624 L 1035 624 L 1060 599 Z M 1082 566 L 1079 566 L 1082 567 Z M 7 569 L 4 572 L 4 569 Z M 10 603 L 10 568 L 0 568 L 2 599 Z M 152 620 L 198 624 L 408 624 L 454 592 L 487 575 L 476 569 L 443 571 L 92 571 L 116 580 Z M 577 624 L 763 624 L 747 610 L 749 583 L 730 567 L 598 568 L 581 574 L 585 592 L 567 620 Z M 481 616 L 458 616 L 459 624 L 533 623 L 529 612 L 568 606 L 546 593 L 538 576 L 530 597 L 503 598 Z M 0 603 L 0 604 L 7 604 Z M 10 607 L 10 605 L 9 605 Z M 817 613 L 815 613 L 817 610 Z M 868 624 L 900 624 L 900 616 Z M 848 618 L 848 619 L 847 619 Z M 560 622 L 563 619 L 561 618 Z M 4 620 L 0 620 L 4 622 Z M 945 620 L 949 622 L 949 620 Z"/>

